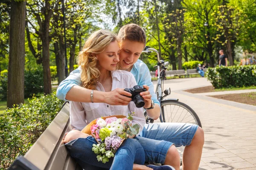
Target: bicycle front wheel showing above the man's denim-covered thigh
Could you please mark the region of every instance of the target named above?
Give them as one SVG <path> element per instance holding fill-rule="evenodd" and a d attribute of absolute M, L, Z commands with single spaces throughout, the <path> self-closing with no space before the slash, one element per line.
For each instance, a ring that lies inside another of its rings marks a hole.
<path fill-rule="evenodd" d="M 202 127 L 195 111 L 188 105 L 176 100 L 163 100 L 161 102 L 161 115 L 163 122 L 192 123 Z M 161 121 L 157 119 L 154 122 Z"/>

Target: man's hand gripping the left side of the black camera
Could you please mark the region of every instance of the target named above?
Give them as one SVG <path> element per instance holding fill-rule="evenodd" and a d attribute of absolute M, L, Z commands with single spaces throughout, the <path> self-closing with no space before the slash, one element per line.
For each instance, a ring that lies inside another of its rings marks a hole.
<path fill-rule="evenodd" d="M 131 96 L 131 94 L 124 91 L 123 88 L 116 88 L 113 91 L 106 92 L 104 103 L 109 105 L 128 105 L 131 102 L 131 98 L 127 96 Z"/>

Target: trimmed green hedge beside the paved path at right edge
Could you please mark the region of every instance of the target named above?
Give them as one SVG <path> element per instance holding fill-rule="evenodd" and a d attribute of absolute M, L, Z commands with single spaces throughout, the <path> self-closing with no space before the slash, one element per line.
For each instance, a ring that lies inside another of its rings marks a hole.
<path fill-rule="evenodd" d="M 256 85 L 256 65 L 208 68 L 206 77 L 215 88 Z"/>

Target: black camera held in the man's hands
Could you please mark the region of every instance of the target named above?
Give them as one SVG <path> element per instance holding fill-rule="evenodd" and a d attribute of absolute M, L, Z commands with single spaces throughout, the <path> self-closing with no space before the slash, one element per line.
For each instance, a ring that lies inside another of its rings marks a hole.
<path fill-rule="evenodd" d="M 129 92 L 131 94 L 131 101 L 134 102 L 137 108 L 142 108 L 145 105 L 145 102 L 140 96 L 140 92 L 147 91 L 146 88 L 142 88 L 139 85 L 134 85 L 133 88 L 125 88 L 125 91 Z"/>

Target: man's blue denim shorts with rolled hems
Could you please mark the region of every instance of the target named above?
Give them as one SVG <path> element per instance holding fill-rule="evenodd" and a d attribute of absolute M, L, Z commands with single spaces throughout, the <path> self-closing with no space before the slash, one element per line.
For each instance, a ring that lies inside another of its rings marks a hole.
<path fill-rule="evenodd" d="M 137 137 L 145 151 L 145 161 L 163 164 L 172 144 L 189 146 L 198 127 L 190 123 L 145 124 Z"/>

